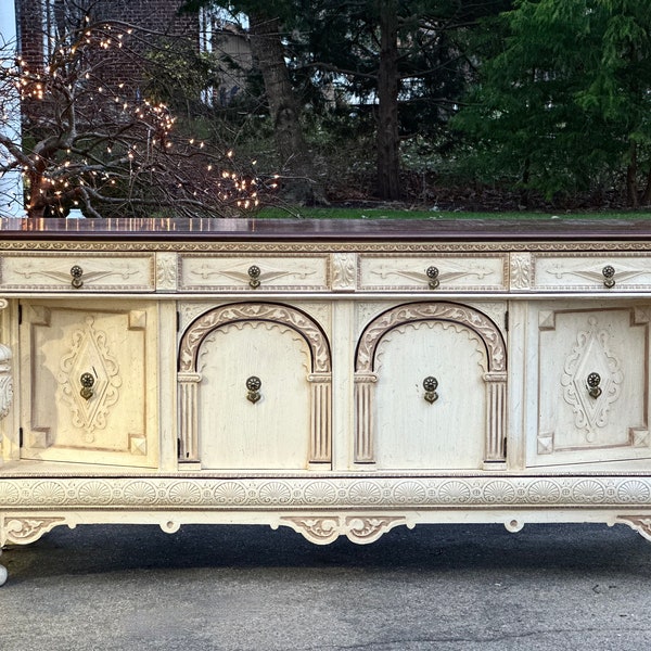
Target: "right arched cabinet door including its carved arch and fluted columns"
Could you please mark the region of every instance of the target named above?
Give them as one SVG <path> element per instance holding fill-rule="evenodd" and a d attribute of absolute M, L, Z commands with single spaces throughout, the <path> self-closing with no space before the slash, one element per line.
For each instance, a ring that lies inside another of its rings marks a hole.
<path fill-rule="evenodd" d="M 356 461 L 480 469 L 505 461 L 506 348 L 454 303 L 401 305 L 365 329 L 356 359 Z"/>

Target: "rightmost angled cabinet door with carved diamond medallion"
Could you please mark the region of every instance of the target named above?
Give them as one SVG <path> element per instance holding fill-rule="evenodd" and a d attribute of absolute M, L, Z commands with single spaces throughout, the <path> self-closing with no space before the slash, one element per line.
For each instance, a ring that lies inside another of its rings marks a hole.
<path fill-rule="evenodd" d="M 538 390 L 529 403 L 537 419 L 528 427 L 529 464 L 651 458 L 651 306 L 556 304 L 533 311 Z"/>

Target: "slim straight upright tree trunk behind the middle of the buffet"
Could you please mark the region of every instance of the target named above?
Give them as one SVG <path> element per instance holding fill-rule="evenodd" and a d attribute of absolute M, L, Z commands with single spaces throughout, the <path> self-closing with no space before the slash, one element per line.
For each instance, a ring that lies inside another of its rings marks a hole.
<path fill-rule="evenodd" d="M 400 197 L 398 133 L 398 15 L 396 0 L 379 0 L 380 67 L 378 72 L 378 194 Z"/>

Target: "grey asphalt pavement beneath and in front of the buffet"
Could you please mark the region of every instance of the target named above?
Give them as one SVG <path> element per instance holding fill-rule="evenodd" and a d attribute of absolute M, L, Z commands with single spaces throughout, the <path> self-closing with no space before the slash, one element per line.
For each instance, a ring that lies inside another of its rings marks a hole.
<path fill-rule="evenodd" d="M 4 550 L 1 651 L 639 651 L 651 545 L 626 526 L 58 527 Z"/>

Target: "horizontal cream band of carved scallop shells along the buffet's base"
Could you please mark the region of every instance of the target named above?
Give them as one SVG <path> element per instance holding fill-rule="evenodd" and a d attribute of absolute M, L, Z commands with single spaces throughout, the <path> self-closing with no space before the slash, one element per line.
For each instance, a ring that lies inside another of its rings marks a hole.
<path fill-rule="evenodd" d="M 8 510 L 119 509 L 176 511 L 279 508 L 330 511 L 417 509 L 643 508 L 651 510 L 651 475 L 241 476 L 209 473 L 180 476 L 0 477 L 0 503 Z M 15 515 L 12 518 L 27 518 Z"/>

